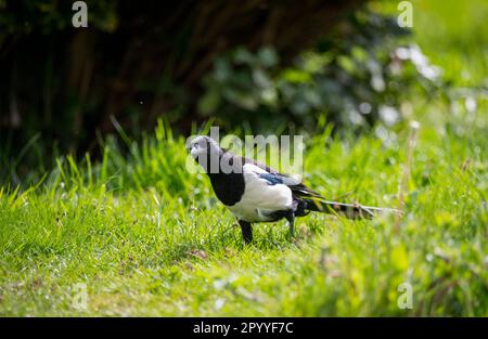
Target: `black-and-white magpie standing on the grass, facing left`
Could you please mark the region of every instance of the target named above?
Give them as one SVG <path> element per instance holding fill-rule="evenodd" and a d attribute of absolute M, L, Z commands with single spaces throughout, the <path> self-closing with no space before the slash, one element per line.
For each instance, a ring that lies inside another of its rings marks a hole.
<path fill-rule="evenodd" d="M 371 219 L 383 211 L 398 212 L 330 201 L 305 185 L 299 177 L 280 173 L 254 159 L 232 154 L 207 135 L 193 138 L 188 148 L 204 168 L 217 198 L 237 219 L 246 244 L 253 240 L 253 223 L 286 219 L 293 237 L 295 218 L 309 212 L 343 214 L 350 219 Z"/>

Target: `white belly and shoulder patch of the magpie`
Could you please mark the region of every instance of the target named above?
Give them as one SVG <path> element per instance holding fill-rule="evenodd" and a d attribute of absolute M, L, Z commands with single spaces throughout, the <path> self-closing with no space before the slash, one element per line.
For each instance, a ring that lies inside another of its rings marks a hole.
<path fill-rule="evenodd" d="M 292 207 L 292 191 L 284 184 L 270 185 L 258 173 L 267 173 L 261 168 L 246 164 L 243 167 L 245 190 L 241 200 L 229 210 L 240 220 L 248 222 L 268 221 L 270 212 Z"/>

